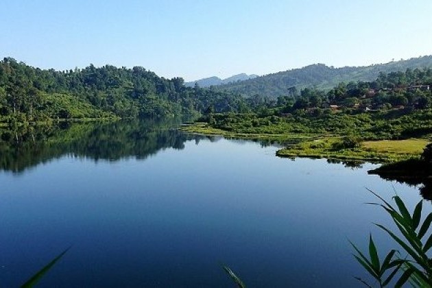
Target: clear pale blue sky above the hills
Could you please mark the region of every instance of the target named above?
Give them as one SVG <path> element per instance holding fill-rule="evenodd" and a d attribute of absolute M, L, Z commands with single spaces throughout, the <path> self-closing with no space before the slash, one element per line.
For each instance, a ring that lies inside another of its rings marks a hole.
<path fill-rule="evenodd" d="M 264 75 L 432 54 L 432 0 L 2 0 L 1 56 L 58 70 Z"/>

